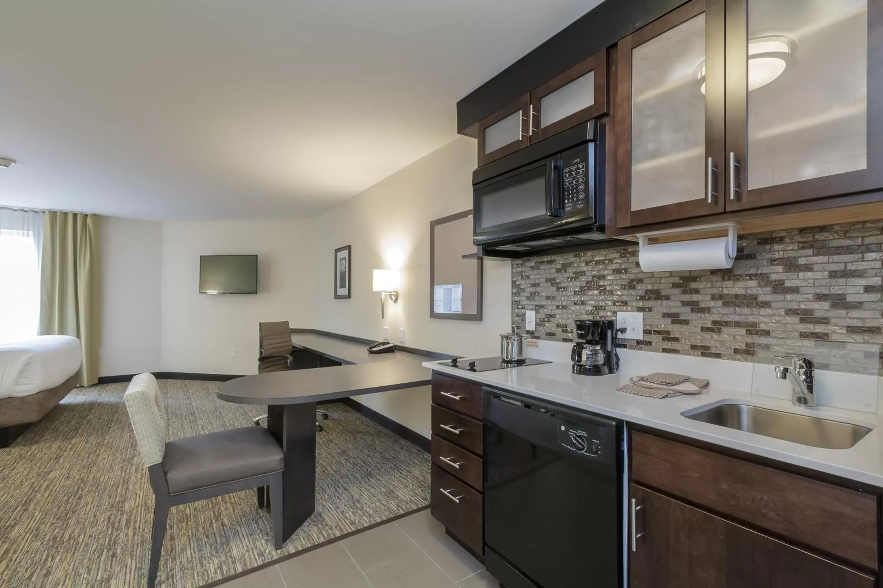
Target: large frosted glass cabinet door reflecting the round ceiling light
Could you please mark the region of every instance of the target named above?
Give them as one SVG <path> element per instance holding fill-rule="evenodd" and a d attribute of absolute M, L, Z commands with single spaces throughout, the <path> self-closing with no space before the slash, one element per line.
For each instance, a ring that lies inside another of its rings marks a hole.
<path fill-rule="evenodd" d="M 868 75 L 879 71 L 880 48 L 868 44 L 879 4 L 728 4 L 728 208 L 880 187 L 869 160 L 880 157 L 869 150 L 879 142 L 879 112 L 869 111 L 879 90 Z"/>

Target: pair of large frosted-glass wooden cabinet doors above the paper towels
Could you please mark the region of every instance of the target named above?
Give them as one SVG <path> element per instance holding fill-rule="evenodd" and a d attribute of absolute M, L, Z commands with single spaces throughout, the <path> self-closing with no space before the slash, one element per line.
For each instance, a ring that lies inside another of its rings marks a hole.
<path fill-rule="evenodd" d="M 617 55 L 616 227 L 883 189 L 883 0 L 691 0 Z"/>

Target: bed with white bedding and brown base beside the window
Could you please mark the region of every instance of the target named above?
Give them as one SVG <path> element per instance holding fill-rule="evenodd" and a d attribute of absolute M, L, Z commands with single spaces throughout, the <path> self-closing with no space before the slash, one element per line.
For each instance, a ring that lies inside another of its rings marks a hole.
<path fill-rule="evenodd" d="M 0 344 L 0 447 L 49 413 L 79 379 L 76 337 L 45 335 Z"/>

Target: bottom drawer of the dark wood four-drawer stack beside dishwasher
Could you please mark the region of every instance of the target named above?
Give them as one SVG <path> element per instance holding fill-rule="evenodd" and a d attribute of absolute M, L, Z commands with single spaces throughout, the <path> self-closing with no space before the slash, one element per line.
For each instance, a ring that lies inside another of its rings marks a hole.
<path fill-rule="evenodd" d="M 484 513 L 481 495 L 454 476 L 433 465 L 432 513 L 472 551 L 484 553 Z"/>

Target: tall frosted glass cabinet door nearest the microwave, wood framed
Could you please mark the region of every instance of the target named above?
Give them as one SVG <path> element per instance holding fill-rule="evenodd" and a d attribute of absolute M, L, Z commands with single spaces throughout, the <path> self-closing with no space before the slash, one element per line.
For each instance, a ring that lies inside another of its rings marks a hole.
<path fill-rule="evenodd" d="M 691 0 L 617 46 L 616 226 L 724 212 L 724 0 Z"/>

